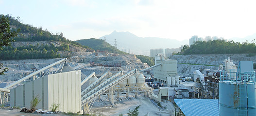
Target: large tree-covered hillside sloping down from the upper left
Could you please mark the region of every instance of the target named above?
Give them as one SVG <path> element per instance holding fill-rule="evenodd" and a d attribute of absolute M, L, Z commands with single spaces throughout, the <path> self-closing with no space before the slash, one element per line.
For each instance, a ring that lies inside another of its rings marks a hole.
<path fill-rule="evenodd" d="M 19 29 L 19 34 L 12 38 L 15 42 L 0 50 L 0 60 L 37 59 L 72 57 L 76 52 L 95 52 L 79 43 L 69 41 L 62 32 L 53 34 L 42 28 L 22 24 L 19 18 L 5 15 L 12 29 Z"/>

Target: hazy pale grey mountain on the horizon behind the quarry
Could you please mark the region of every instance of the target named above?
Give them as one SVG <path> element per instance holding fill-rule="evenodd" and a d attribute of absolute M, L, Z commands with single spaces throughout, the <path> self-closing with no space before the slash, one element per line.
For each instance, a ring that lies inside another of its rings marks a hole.
<path fill-rule="evenodd" d="M 178 41 L 173 39 L 158 37 L 138 37 L 130 32 L 113 31 L 109 35 L 100 37 L 106 42 L 114 45 L 117 41 L 117 48 L 136 55 L 150 55 L 150 49 L 156 48 L 179 48 L 181 45 L 188 44 L 188 40 Z"/>

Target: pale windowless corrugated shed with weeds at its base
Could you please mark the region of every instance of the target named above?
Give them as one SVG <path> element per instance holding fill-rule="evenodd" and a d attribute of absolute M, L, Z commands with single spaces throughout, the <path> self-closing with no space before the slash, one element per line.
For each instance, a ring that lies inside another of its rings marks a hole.
<path fill-rule="evenodd" d="M 37 95 L 41 101 L 36 109 L 50 110 L 53 103 L 59 103 L 57 111 L 80 112 L 81 72 L 50 74 L 13 88 L 10 91 L 11 107 L 30 108 L 30 102 Z"/>

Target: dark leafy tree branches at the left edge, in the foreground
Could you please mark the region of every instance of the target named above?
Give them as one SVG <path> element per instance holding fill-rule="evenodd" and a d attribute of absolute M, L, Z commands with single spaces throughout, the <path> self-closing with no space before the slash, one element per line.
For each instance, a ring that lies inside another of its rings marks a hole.
<path fill-rule="evenodd" d="M 11 29 L 8 17 L 0 14 L 0 50 L 3 49 L 2 46 L 8 46 L 14 41 L 11 38 L 17 36 L 18 31 Z M 0 75 L 3 75 L 8 70 L 8 67 L 2 68 L 2 65 L 0 63 Z"/>

